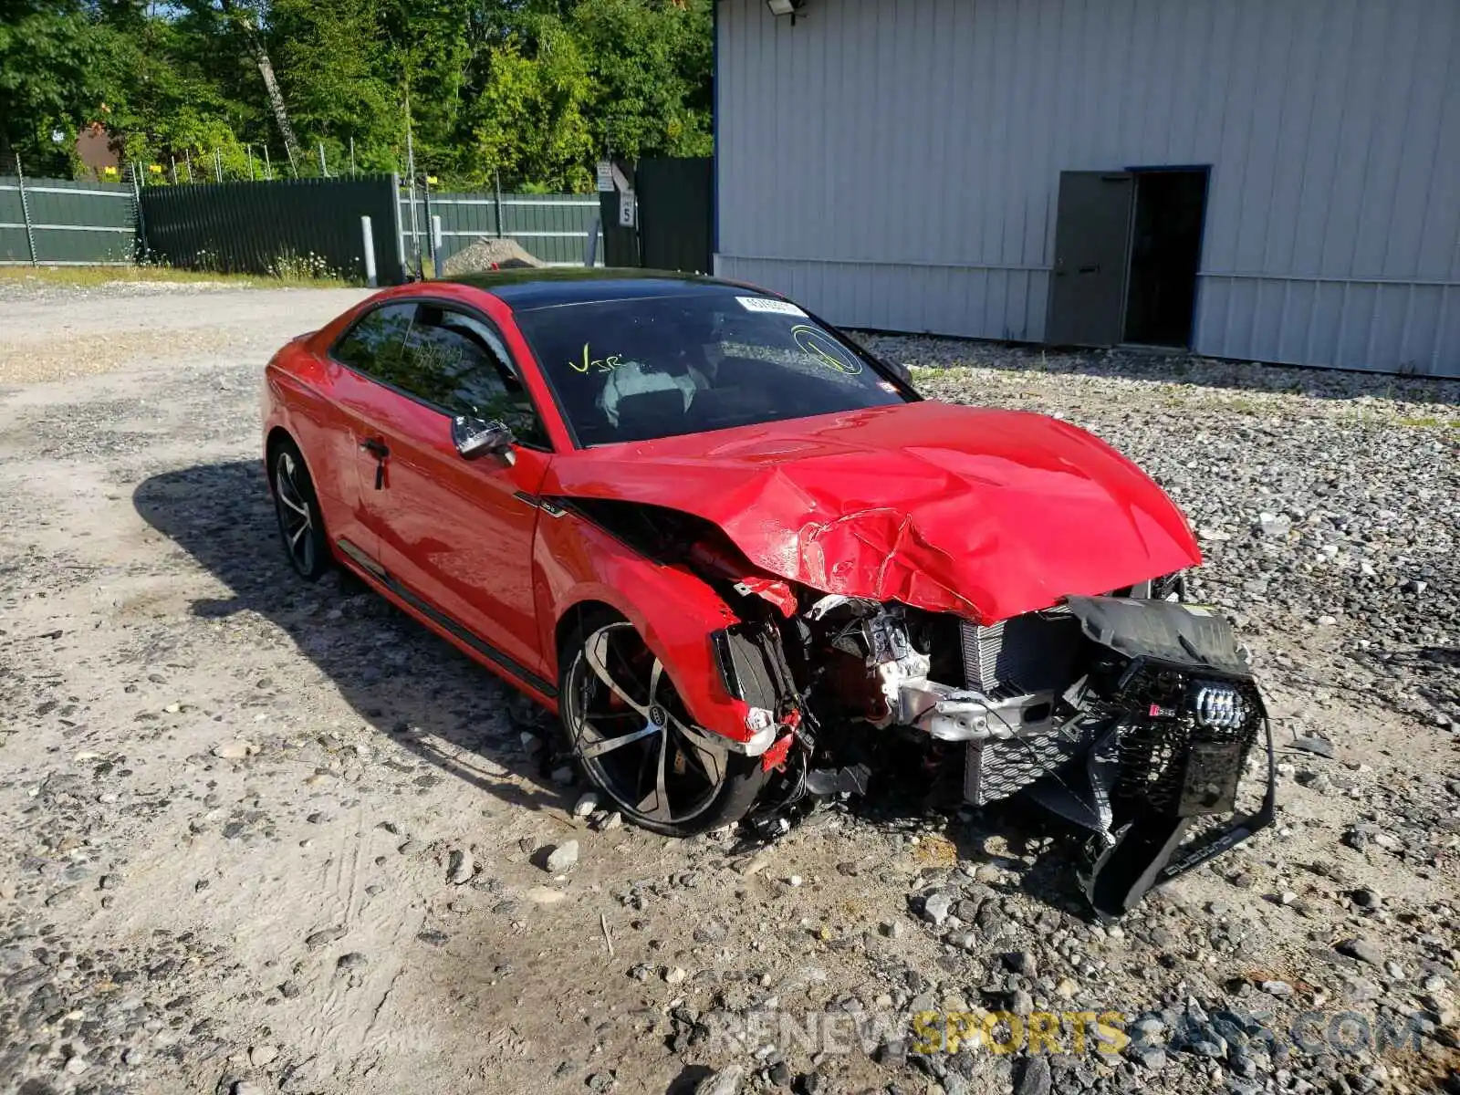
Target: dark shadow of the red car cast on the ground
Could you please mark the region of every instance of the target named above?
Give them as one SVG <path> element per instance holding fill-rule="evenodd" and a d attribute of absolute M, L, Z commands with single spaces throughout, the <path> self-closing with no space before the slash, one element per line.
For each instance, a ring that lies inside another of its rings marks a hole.
<path fill-rule="evenodd" d="M 272 620 L 381 736 L 502 802 L 571 810 L 575 791 L 553 783 L 548 750 L 524 743 L 524 733 L 555 740 L 546 711 L 356 578 L 310 584 L 293 574 L 260 463 L 156 474 L 133 505 L 231 590 L 196 600 L 196 616 Z"/>

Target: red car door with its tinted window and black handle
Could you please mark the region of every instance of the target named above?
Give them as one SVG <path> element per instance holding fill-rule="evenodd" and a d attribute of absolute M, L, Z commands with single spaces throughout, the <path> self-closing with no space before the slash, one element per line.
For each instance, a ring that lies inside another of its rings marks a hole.
<path fill-rule="evenodd" d="M 380 565 L 400 596 L 533 683 L 546 658 L 531 549 L 552 453 L 499 333 L 460 305 L 418 302 L 400 353 L 371 381 L 355 413 Z M 510 458 L 464 460 L 457 415 L 507 423 Z"/>

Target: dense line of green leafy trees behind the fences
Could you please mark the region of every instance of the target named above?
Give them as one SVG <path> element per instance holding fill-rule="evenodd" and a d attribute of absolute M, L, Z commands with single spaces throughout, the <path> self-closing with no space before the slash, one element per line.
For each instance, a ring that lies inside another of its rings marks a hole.
<path fill-rule="evenodd" d="M 587 190 L 593 161 L 710 152 L 712 0 L 0 0 L 0 152 L 64 171 L 105 123 L 130 159 Z M 51 134 L 60 131 L 61 140 Z M 203 166 L 200 165 L 200 171 Z"/>

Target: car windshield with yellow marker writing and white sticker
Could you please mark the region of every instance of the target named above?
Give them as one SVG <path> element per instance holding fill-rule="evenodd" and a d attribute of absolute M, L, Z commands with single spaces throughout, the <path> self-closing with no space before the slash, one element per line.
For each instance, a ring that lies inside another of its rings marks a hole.
<path fill-rule="evenodd" d="M 580 445 L 905 403 L 866 355 L 753 291 L 517 314 Z"/>

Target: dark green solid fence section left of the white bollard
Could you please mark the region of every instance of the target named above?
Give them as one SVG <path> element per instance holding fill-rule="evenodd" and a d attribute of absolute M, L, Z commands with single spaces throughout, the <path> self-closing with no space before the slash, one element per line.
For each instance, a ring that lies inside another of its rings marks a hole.
<path fill-rule="evenodd" d="M 365 280 L 361 218 L 371 218 L 381 285 L 404 280 L 394 175 L 143 187 L 147 250 L 216 273 Z"/>

